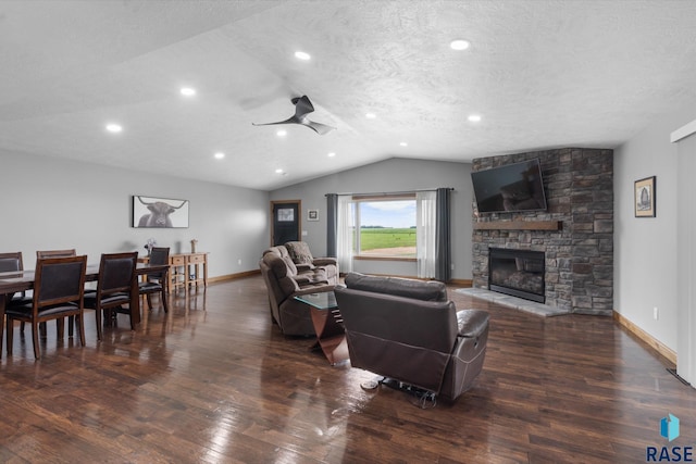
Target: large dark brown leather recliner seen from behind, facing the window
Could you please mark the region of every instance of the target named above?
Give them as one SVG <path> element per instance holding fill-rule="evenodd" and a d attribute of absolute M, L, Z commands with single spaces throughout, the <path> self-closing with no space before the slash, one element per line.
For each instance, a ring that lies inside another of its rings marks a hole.
<path fill-rule="evenodd" d="M 334 292 L 350 364 L 453 401 L 483 368 L 488 313 L 457 311 L 438 281 L 349 273 Z"/>

